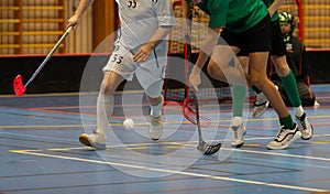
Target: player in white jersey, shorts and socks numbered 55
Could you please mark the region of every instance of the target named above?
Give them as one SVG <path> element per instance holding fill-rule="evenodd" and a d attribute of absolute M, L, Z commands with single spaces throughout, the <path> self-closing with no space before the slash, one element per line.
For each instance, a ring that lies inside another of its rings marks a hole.
<path fill-rule="evenodd" d="M 68 26 L 76 26 L 94 0 L 80 0 Z M 118 85 L 136 75 L 151 106 L 150 137 L 158 140 L 163 134 L 161 95 L 167 65 L 166 36 L 175 24 L 169 0 L 116 0 L 121 28 L 116 48 L 103 68 L 103 80 L 97 100 L 97 129 L 82 133 L 79 141 L 88 147 L 105 150 L 108 119 L 113 110 L 113 93 Z"/>

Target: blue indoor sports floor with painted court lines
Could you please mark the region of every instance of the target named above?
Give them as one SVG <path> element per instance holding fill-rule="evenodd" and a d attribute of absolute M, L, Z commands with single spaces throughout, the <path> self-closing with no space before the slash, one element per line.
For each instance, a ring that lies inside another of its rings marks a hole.
<path fill-rule="evenodd" d="M 184 119 L 178 105 L 165 106 L 164 137 L 150 140 L 147 107 L 139 91 L 129 95 L 129 104 L 117 94 L 105 151 L 78 141 L 81 132 L 96 128 L 95 94 L 86 94 L 90 99 L 82 104 L 86 96 L 78 94 L 0 96 L 0 194 L 329 192 L 330 85 L 315 85 L 312 90 L 320 106 L 305 109 L 315 136 L 285 150 L 266 149 L 278 131 L 272 108 L 251 119 L 248 106 L 245 144 L 231 149 L 231 104 L 220 105 L 220 111 L 210 104 L 201 106 L 201 115 L 212 120 L 204 128 L 205 139 L 223 143 L 209 157 L 196 150 L 196 127 Z M 122 127 L 128 116 L 135 121 L 133 130 Z"/>

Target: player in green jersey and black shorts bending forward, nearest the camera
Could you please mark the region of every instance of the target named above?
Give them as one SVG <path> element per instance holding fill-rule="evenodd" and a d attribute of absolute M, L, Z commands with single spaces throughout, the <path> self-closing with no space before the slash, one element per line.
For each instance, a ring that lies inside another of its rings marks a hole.
<path fill-rule="evenodd" d="M 276 138 L 267 144 L 268 149 L 285 149 L 300 132 L 293 121 L 278 90 L 266 76 L 266 65 L 272 41 L 272 22 L 268 10 L 261 0 L 194 0 L 202 11 L 209 14 L 209 33 L 197 62 L 191 69 L 190 84 L 197 88 L 200 84 L 200 72 L 211 54 L 207 71 L 216 79 L 239 84 L 239 77 L 228 76 L 229 61 L 223 57 L 228 53 L 228 43 L 238 55 L 249 56 L 249 85 L 260 88 L 271 101 L 279 117 L 280 130 Z M 183 1 L 183 13 L 188 18 L 191 0 Z M 216 33 L 211 33 L 216 32 Z M 221 37 L 219 39 L 219 34 Z M 227 52 L 227 53 L 226 53 Z M 230 56 L 230 55 L 229 55 Z M 237 61 L 235 61 L 237 62 Z M 237 63 L 237 66 L 240 66 Z M 245 78 L 238 69 L 237 75 Z M 227 77 L 226 77 L 227 76 Z"/>

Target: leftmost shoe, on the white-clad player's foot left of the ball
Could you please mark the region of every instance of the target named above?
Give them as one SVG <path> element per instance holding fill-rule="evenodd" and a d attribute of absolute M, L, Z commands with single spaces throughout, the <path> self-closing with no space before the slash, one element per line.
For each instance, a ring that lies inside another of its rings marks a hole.
<path fill-rule="evenodd" d="M 94 131 L 91 134 L 82 133 L 79 136 L 80 143 L 95 148 L 97 150 L 106 150 L 106 137 Z"/>

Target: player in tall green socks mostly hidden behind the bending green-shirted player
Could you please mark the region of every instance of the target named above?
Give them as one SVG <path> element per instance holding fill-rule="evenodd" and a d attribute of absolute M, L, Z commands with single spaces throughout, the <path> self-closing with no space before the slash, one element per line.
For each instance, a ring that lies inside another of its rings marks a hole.
<path fill-rule="evenodd" d="M 293 74 L 292 69 L 289 68 L 287 61 L 286 61 L 286 46 L 284 43 L 284 36 L 280 31 L 279 22 L 278 22 L 278 13 L 277 9 L 282 4 L 283 0 L 263 0 L 265 6 L 268 8 L 270 15 L 272 15 L 272 51 L 270 52 L 272 60 L 276 67 L 276 74 L 279 76 L 280 82 L 283 83 L 283 88 L 288 94 L 289 100 L 294 106 L 294 114 L 296 121 L 298 123 L 298 129 L 301 132 L 301 139 L 309 140 L 312 137 L 312 125 L 307 120 L 306 112 L 301 106 L 301 100 L 299 97 L 299 91 L 297 88 L 297 83 L 295 75 Z M 248 69 L 248 57 L 240 56 L 240 62 L 244 69 Z M 234 87 L 233 94 L 237 94 L 241 88 L 237 86 Z M 268 107 L 270 101 L 267 100 L 266 96 L 255 88 L 256 90 L 256 101 L 254 104 L 253 109 L 253 118 L 260 117 Z M 240 93 L 239 93 L 240 94 Z M 232 121 L 232 129 L 235 132 L 235 136 L 232 138 L 232 146 L 233 147 L 241 147 L 244 143 L 244 133 L 245 127 L 242 122 L 242 112 L 243 112 L 243 105 L 244 99 L 240 96 L 234 98 L 233 103 L 233 121 Z"/>

